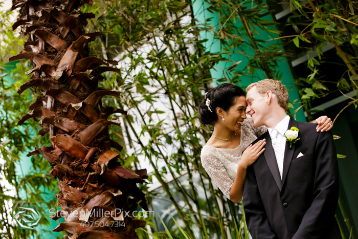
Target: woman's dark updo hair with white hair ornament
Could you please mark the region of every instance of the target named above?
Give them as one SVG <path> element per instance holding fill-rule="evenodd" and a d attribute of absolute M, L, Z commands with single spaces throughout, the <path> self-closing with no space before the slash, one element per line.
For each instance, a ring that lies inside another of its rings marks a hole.
<path fill-rule="evenodd" d="M 199 105 L 199 120 L 202 124 L 214 125 L 217 120 L 216 107 L 221 107 L 224 111 L 236 102 L 236 97 L 245 96 L 245 93 L 239 86 L 229 83 L 223 83 L 208 91 L 204 100 Z M 207 99 L 210 100 L 210 111 L 207 106 Z"/>

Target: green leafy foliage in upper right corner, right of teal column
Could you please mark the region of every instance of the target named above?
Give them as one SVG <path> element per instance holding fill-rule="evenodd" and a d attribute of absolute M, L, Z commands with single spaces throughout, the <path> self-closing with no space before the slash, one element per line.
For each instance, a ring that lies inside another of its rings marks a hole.
<path fill-rule="evenodd" d="M 352 1 L 337 2 L 331 0 L 307 1 L 307 5 L 293 0 L 289 2 L 291 6 L 297 7 L 297 11 L 292 9 L 295 15 L 288 17 L 287 20 L 287 25 L 292 26 L 298 34 L 291 38 L 294 44 L 296 47 L 301 47 L 300 41 L 303 41 L 311 43 L 310 46 L 312 44 L 316 46 L 317 56 L 310 57 L 307 62 L 311 74 L 306 78 L 296 80 L 296 84 L 302 86 L 300 89 L 301 100 L 308 113 L 309 120 L 311 120 L 310 103 L 313 100 L 325 97 L 337 90 L 343 95 L 349 91 L 357 90 L 358 19 L 356 13 L 358 5 Z M 300 30 L 302 28 L 297 26 L 305 27 Z M 322 79 L 325 74 L 320 70 L 321 62 L 325 61 L 322 49 L 327 44 L 334 46 L 337 56 L 346 66 L 346 72 L 342 77 L 334 80 L 337 89 L 328 89 L 325 86 L 328 81 Z M 349 104 L 356 105 L 356 99 L 352 98 Z"/>

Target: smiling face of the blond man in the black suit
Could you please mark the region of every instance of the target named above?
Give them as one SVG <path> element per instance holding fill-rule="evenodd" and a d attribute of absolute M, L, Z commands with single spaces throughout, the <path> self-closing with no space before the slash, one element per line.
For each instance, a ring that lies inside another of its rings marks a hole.
<path fill-rule="evenodd" d="M 265 115 L 268 110 L 267 100 L 265 95 L 260 94 L 256 86 L 250 89 L 246 95 L 246 102 L 248 107 L 246 108 L 246 114 L 250 115 L 255 127 L 265 125 Z"/>

